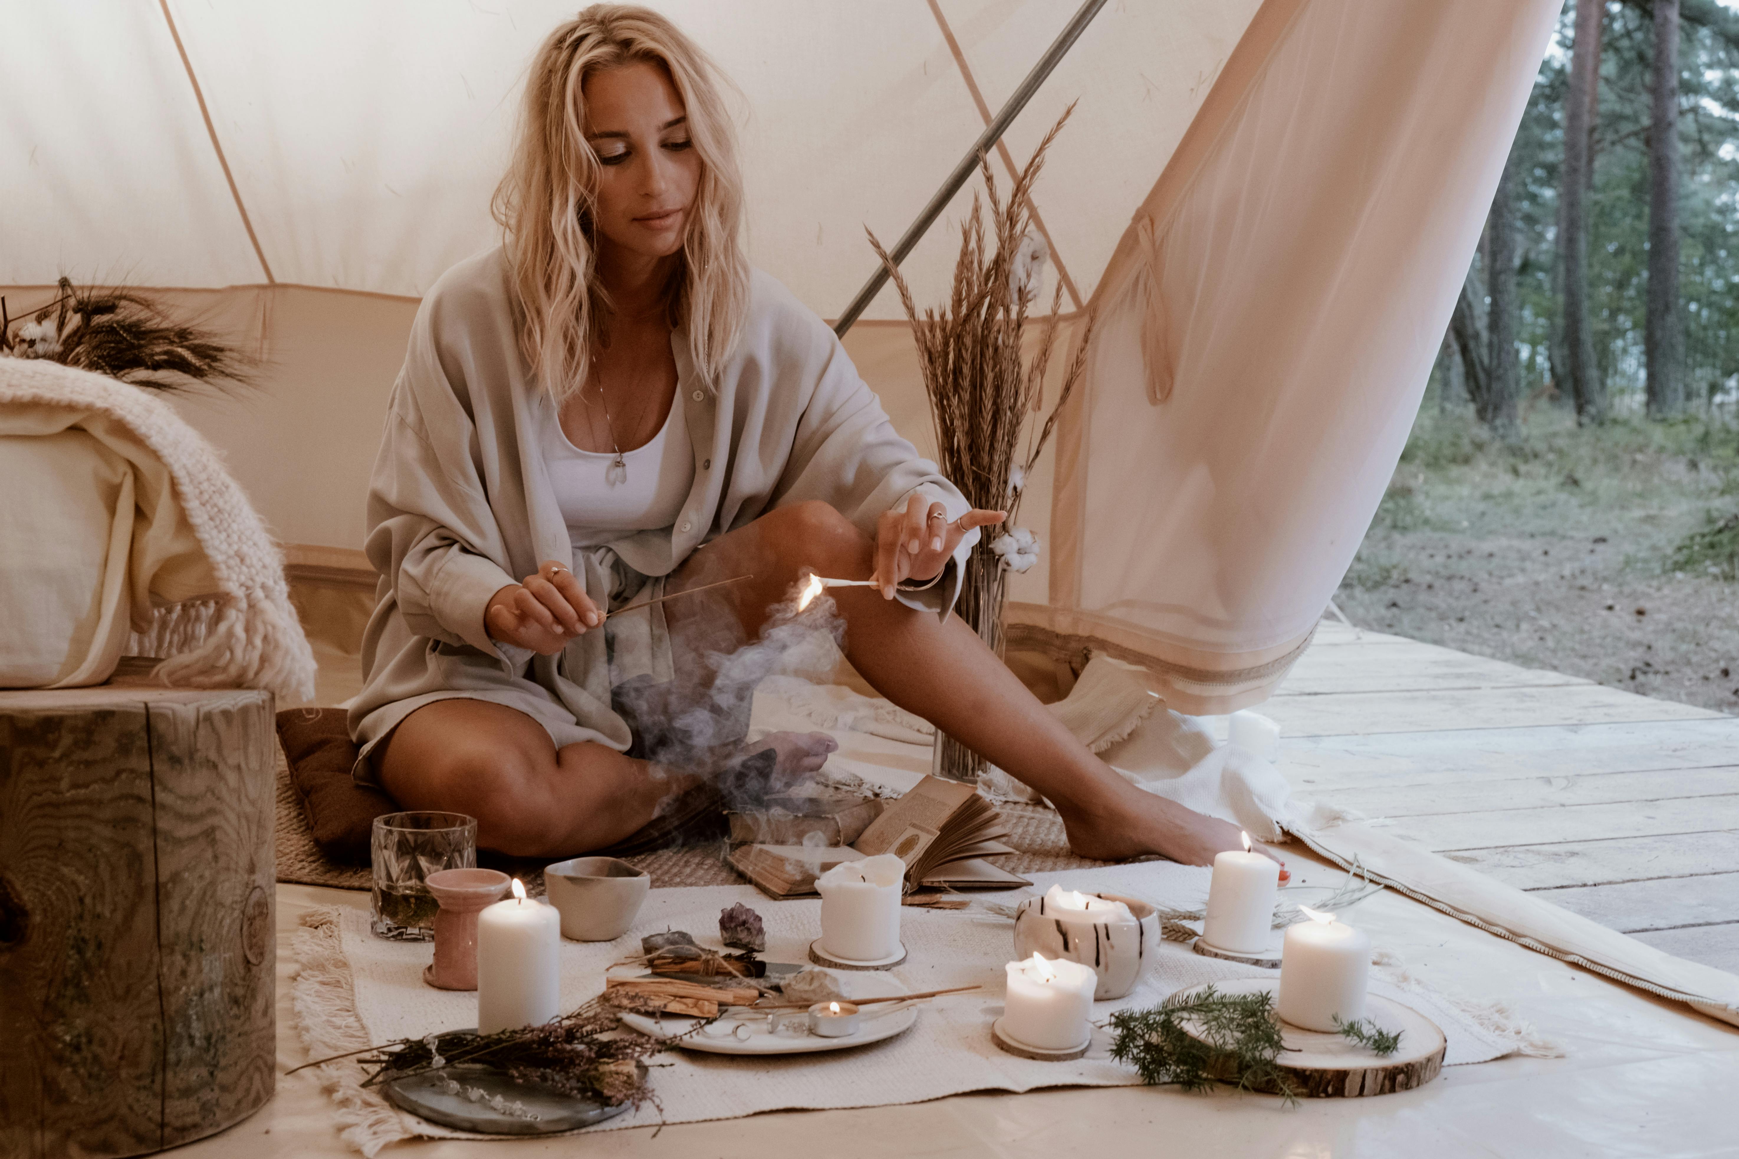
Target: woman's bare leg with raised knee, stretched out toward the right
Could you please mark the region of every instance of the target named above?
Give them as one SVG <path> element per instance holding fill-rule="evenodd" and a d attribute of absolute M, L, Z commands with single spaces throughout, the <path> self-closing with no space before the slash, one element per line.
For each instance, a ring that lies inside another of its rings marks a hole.
<path fill-rule="evenodd" d="M 746 634 L 769 608 L 788 599 L 800 568 L 838 579 L 868 579 L 868 535 L 821 502 L 762 516 L 690 556 L 670 589 L 727 575 L 753 580 L 666 605 L 671 632 L 685 617 L 716 615 L 729 603 Z M 1238 829 L 1143 792 L 1087 751 L 1068 728 L 984 646 L 958 617 L 941 620 L 866 587 L 831 593 L 845 617 L 845 652 L 876 692 L 932 721 L 1057 806 L 1069 844 L 1083 857 L 1122 860 L 1160 853 L 1205 865 L 1221 850 L 1242 848 Z M 685 606 L 687 605 L 687 606 Z"/>

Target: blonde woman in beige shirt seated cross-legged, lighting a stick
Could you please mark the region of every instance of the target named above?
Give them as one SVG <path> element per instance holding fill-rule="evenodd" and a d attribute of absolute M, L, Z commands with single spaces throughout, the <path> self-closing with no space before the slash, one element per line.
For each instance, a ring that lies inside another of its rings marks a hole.
<path fill-rule="evenodd" d="M 969 509 L 826 325 L 748 268 L 732 127 L 675 26 L 595 5 L 550 35 L 496 212 L 504 247 L 423 301 L 374 469 L 358 777 L 476 817 L 506 853 L 619 841 L 741 737 L 701 735 L 703 657 L 814 568 L 875 579 L 835 596 L 856 669 L 1050 798 L 1082 855 L 1238 844 L 1089 754 L 948 617 L 1003 514 Z M 645 759 L 654 733 L 704 759 Z M 831 740 L 774 747 L 796 773 Z"/>

